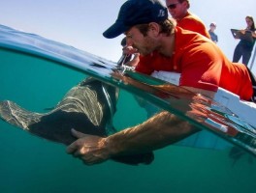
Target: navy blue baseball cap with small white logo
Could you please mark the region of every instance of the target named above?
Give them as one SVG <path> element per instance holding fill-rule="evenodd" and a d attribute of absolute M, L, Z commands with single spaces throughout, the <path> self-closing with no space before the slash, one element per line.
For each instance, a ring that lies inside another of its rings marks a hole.
<path fill-rule="evenodd" d="M 116 21 L 103 36 L 113 39 L 134 25 L 164 21 L 167 18 L 168 10 L 158 0 L 128 0 L 121 6 Z"/>

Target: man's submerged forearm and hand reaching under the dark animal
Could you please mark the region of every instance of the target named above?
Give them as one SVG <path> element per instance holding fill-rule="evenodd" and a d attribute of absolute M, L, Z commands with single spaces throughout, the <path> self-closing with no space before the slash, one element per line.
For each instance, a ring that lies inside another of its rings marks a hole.
<path fill-rule="evenodd" d="M 199 131 L 169 112 L 162 112 L 143 124 L 127 128 L 107 138 L 73 134 L 80 138 L 67 148 L 68 153 L 79 156 L 86 164 L 103 162 L 113 155 L 150 152 Z"/>

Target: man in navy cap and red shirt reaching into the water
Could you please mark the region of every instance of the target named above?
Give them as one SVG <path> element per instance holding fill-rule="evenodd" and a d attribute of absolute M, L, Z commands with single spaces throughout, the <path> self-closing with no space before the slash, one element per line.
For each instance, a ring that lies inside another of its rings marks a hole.
<path fill-rule="evenodd" d="M 202 35 L 176 27 L 158 0 L 128 0 L 120 8 L 115 23 L 103 35 L 112 39 L 125 34 L 128 46 L 140 53 L 136 70 L 180 73 L 180 88 L 213 97 L 222 87 L 242 99 L 252 96 L 246 67 L 233 64 L 219 47 Z M 122 77 L 122 76 L 121 76 Z M 162 85 L 164 87 L 164 85 Z M 172 90 L 167 87 L 166 89 Z M 169 112 L 160 112 L 143 124 L 131 126 L 108 137 L 80 133 L 67 152 L 85 164 L 106 161 L 117 154 L 154 151 L 174 144 L 201 129 Z"/>

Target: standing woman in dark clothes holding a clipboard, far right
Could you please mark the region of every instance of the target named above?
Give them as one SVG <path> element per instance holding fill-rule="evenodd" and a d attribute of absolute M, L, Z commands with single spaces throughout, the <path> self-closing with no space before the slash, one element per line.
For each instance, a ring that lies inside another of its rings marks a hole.
<path fill-rule="evenodd" d="M 251 52 L 253 50 L 253 46 L 256 40 L 255 34 L 255 23 L 252 16 L 246 16 L 245 21 L 247 23 L 247 27 L 244 30 L 240 30 L 242 34 L 251 33 L 252 39 L 251 40 L 240 40 L 238 45 L 235 48 L 234 55 L 233 55 L 233 62 L 238 63 L 240 58 L 242 57 L 242 64 L 248 65 Z"/>

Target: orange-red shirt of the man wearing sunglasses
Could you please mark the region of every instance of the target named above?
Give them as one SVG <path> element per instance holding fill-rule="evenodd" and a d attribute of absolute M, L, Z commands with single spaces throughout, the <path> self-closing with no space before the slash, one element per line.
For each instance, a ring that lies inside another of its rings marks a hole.
<path fill-rule="evenodd" d="M 187 13 L 182 19 L 176 20 L 176 26 L 185 30 L 197 32 L 210 39 L 208 30 L 203 21 L 195 14 Z"/>

